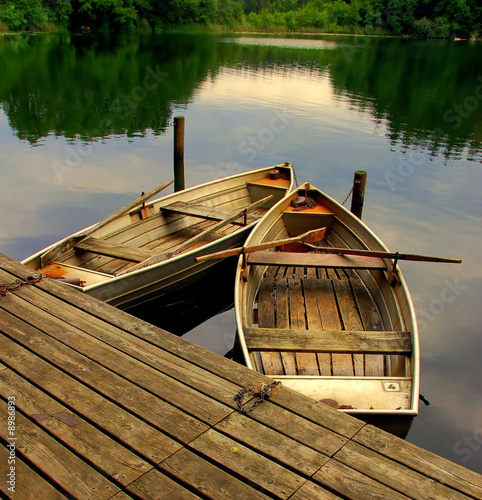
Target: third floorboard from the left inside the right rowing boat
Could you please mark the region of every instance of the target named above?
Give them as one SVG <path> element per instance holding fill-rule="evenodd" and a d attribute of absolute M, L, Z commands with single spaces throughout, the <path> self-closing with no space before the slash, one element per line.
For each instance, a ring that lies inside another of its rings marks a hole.
<path fill-rule="evenodd" d="M 301 278 L 288 280 L 289 311 L 291 328 L 306 328 L 305 300 Z M 303 351 L 304 349 L 302 349 Z M 296 352 L 296 349 L 295 349 Z M 318 359 L 314 353 L 296 352 L 298 375 L 319 375 Z"/>

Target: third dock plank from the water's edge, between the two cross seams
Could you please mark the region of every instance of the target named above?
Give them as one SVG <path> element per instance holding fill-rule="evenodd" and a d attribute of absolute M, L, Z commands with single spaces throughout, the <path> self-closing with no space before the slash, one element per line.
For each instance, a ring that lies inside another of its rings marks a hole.
<path fill-rule="evenodd" d="M 310 476 L 328 460 L 328 457 L 312 448 L 240 413 L 230 415 L 215 428 Z"/>

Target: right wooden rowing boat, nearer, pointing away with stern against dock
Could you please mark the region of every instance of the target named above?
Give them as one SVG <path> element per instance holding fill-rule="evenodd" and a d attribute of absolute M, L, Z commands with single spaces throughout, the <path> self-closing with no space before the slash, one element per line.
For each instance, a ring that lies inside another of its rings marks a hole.
<path fill-rule="evenodd" d="M 315 244 L 250 251 L 320 228 Z M 403 276 L 392 259 L 323 247 L 387 251 L 362 221 L 309 184 L 251 232 L 235 289 L 244 360 L 317 401 L 405 435 L 418 413 L 419 347 Z"/>

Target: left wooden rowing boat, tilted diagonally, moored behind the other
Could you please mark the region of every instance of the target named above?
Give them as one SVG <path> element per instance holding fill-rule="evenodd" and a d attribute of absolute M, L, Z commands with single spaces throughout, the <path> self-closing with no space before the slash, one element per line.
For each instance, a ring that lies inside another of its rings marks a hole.
<path fill-rule="evenodd" d="M 273 173 L 277 171 L 278 173 Z M 105 302 L 128 309 L 205 274 L 205 253 L 242 245 L 293 186 L 291 164 L 208 182 L 119 211 L 23 261 Z M 157 189 L 156 191 L 159 191 Z M 135 202 L 134 202 L 135 205 Z M 120 214 L 120 215 L 119 215 Z"/>

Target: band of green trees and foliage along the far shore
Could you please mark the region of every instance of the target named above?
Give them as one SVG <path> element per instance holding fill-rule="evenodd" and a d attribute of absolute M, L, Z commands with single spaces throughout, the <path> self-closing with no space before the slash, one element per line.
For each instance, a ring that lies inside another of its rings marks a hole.
<path fill-rule="evenodd" d="M 11 30 L 48 22 L 132 31 L 197 25 L 254 31 L 347 31 L 469 37 L 482 31 L 480 0 L 0 0 Z"/>

